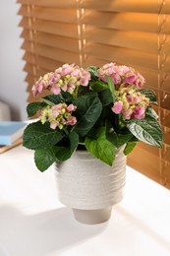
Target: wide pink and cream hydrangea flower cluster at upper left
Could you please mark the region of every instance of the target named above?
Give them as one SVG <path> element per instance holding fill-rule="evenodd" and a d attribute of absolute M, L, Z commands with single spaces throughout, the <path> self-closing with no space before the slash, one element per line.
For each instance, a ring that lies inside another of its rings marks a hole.
<path fill-rule="evenodd" d="M 43 90 L 49 90 L 54 95 L 59 95 L 61 91 L 74 94 L 80 87 L 86 87 L 90 80 L 90 74 L 85 69 L 75 64 L 64 64 L 55 72 L 50 72 L 40 77 L 32 87 L 33 96 L 42 93 Z"/>

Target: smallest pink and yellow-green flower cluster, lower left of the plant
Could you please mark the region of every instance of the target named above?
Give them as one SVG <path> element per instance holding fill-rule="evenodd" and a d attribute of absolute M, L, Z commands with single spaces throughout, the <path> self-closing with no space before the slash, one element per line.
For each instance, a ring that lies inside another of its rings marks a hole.
<path fill-rule="evenodd" d="M 46 121 L 50 123 L 50 128 L 63 129 L 65 125 L 75 125 L 77 118 L 72 116 L 72 112 L 76 110 L 74 104 L 67 105 L 66 103 L 59 103 L 56 105 L 47 105 L 40 111 L 40 120 L 44 124 Z"/>

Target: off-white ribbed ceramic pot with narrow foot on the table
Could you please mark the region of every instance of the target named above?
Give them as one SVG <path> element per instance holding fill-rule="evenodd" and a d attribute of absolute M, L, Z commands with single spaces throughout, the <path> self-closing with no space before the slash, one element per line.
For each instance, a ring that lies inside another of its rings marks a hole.
<path fill-rule="evenodd" d="M 117 151 L 112 166 L 76 151 L 70 160 L 56 163 L 59 200 L 73 209 L 77 221 L 98 224 L 110 219 L 112 206 L 124 196 L 126 156 Z"/>

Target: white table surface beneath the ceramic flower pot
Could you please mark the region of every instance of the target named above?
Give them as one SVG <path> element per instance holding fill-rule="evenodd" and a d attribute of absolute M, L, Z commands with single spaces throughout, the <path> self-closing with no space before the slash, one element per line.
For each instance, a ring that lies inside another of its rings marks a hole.
<path fill-rule="evenodd" d="M 0 155 L 0 256 L 169 256 L 170 191 L 127 167 L 124 200 L 104 224 L 75 221 L 22 146 Z"/>

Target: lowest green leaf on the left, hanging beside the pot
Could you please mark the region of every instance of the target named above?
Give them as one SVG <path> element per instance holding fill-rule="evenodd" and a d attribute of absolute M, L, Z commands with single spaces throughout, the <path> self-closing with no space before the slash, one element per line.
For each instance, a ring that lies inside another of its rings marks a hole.
<path fill-rule="evenodd" d="M 46 170 L 55 160 L 54 146 L 43 150 L 36 150 L 34 152 L 34 162 L 40 171 Z"/>

